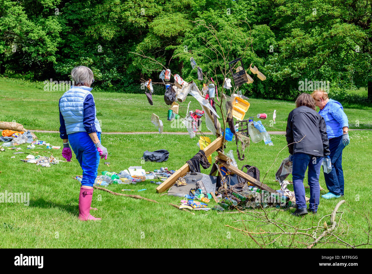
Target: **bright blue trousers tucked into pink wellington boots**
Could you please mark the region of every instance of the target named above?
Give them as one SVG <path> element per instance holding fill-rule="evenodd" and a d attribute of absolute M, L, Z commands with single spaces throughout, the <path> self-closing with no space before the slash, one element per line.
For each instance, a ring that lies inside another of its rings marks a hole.
<path fill-rule="evenodd" d="M 101 141 L 101 133 L 97 132 L 97 137 Z M 82 186 L 93 186 L 94 180 L 97 178 L 97 169 L 99 165 L 99 152 L 94 145 L 92 139 L 86 132 L 76 132 L 68 135 L 76 159 L 83 169 Z"/>

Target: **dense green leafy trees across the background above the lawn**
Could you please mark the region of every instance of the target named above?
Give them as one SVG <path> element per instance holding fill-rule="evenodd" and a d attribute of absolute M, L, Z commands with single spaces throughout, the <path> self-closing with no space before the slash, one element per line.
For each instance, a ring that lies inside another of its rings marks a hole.
<path fill-rule="evenodd" d="M 245 68 L 267 76 L 241 86 L 249 96 L 291 98 L 306 80 L 372 98 L 371 11 L 371 0 L 0 0 L 0 73 L 64 81 L 86 65 L 100 88 L 143 92 L 140 79 L 162 69 L 129 53 L 143 52 L 191 81 L 191 56 L 207 75 L 227 65 L 206 47 L 206 22 L 228 61 L 246 49 Z"/>

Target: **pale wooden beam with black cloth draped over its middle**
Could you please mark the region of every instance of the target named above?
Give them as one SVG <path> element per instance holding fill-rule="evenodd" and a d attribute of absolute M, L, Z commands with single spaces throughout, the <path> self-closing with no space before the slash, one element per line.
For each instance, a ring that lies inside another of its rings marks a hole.
<path fill-rule="evenodd" d="M 222 140 L 224 140 L 223 136 L 219 136 L 216 138 L 211 144 L 203 149 L 205 156 L 209 157 L 215 152 L 218 148 L 222 146 Z M 226 140 L 225 140 L 226 142 Z M 165 180 L 160 186 L 156 188 L 156 192 L 161 193 L 169 189 L 173 184 L 177 181 L 179 177 L 183 177 L 186 175 L 187 172 L 190 171 L 190 167 L 188 164 L 184 164 L 179 170 L 173 173 L 167 180 Z M 242 171 L 243 172 L 243 171 Z"/>

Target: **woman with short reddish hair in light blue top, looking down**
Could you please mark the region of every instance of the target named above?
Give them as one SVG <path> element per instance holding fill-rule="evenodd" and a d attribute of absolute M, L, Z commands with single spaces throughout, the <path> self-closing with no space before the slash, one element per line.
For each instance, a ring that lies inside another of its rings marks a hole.
<path fill-rule="evenodd" d="M 325 184 L 329 192 L 322 195 L 325 199 L 339 198 L 344 195 L 344 173 L 342 170 L 342 150 L 349 142 L 349 121 L 342 105 L 330 98 L 324 91 L 312 92 L 315 105 L 319 107 L 319 114 L 324 118 L 329 139 L 332 171 L 324 173 Z"/>

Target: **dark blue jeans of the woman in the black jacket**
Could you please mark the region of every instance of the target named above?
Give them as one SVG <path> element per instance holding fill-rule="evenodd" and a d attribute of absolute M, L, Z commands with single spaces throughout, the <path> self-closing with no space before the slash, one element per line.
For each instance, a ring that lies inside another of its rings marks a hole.
<path fill-rule="evenodd" d="M 323 157 L 312 156 L 306 153 L 295 153 L 292 156 L 292 180 L 298 208 L 306 207 L 304 178 L 307 167 L 308 185 L 310 186 L 309 208 L 317 211 L 319 205 L 320 187 L 319 173 Z"/>

